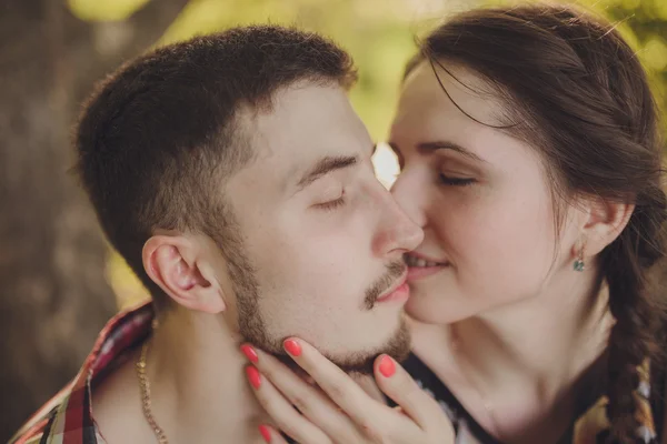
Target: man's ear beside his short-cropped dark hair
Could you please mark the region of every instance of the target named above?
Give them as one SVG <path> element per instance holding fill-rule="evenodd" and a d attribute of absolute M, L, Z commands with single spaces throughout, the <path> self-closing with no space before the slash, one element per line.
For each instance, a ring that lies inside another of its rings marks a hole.
<path fill-rule="evenodd" d="M 220 313 L 226 309 L 212 268 L 198 242 L 183 235 L 155 235 L 143 245 L 143 268 L 176 303 L 189 310 Z"/>

